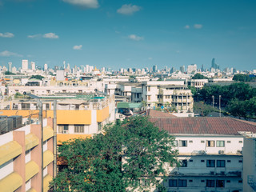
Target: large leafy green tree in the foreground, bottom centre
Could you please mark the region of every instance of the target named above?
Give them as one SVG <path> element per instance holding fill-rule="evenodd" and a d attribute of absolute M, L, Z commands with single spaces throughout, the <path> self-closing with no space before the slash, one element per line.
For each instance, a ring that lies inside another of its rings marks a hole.
<path fill-rule="evenodd" d="M 129 118 L 106 126 L 93 138 L 64 142 L 59 157 L 66 159 L 52 185 L 56 191 L 127 191 L 146 179 L 160 186 L 164 163 L 177 163 L 174 138 L 145 117 Z"/>

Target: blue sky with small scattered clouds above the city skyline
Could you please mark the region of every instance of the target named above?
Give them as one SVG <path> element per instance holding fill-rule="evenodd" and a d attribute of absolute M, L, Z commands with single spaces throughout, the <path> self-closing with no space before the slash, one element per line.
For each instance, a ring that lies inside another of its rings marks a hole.
<path fill-rule="evenodd" d="M 255 0 L 0 0 L 0 65 L 256 69 Z"/>

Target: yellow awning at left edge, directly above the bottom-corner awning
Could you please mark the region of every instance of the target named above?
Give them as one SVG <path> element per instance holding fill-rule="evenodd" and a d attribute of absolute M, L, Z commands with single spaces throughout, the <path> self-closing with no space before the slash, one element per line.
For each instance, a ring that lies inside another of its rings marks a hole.
<path fill-rule="evenodd" d="M 0 146 L 0 166 L 10 159 L 16 158 L 19 154 L 22 154 L 22 146 L 16 141 L 7 142 Z"/>

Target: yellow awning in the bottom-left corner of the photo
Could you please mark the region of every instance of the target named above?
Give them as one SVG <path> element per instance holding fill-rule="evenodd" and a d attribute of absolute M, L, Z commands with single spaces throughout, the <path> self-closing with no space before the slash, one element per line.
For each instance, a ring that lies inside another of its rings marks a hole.
<path fill-rule="evenodd" d="M 22 186 L 22 177 L 16 172 L 9 174 L 8 176 L 0 180 L 1 192 L 14 191 L 17 190 L 20 186 Z"/>

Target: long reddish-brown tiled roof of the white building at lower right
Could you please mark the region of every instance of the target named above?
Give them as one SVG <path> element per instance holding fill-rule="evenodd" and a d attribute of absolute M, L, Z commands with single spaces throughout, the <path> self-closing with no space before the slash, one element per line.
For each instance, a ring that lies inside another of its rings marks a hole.
<path fill-rule="evenodd" d="M 256 126 L 234 118 L 150 118 L 150 122 L 170 134 L 239 135 L 238 131 L 256 133 Z"/>

